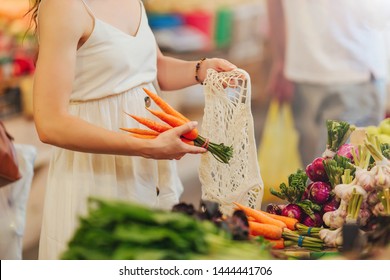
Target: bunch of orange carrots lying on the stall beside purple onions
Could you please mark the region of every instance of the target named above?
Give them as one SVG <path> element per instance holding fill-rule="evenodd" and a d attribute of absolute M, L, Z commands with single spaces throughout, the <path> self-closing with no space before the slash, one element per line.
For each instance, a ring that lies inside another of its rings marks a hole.
<path fill-rule="evenodd" d="M 248 218 L 249 233 L 261 236 L 267 240 L 273 249 L 284 249 L 298 246 L 310 250 L 322 250 L 324 243 L 321 239 L 308 236 L 308 227 L 299 223 L 295 218 L 271 214 L 234 202 Z M 306 230 L 306 233 L 302 233 Z"/>

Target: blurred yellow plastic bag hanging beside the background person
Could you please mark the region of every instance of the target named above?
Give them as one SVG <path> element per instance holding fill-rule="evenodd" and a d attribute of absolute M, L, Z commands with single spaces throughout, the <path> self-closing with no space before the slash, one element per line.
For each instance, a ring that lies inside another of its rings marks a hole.
<path fill-rule="evenodd" d="M 280 105 L 277 100 L 271 100 L 258 151 L 264 182 L 263 202 L 278 201 L 280 199 L 270 193 L 270 188 L 279 190 L 279 185 L 287 184 L 288 176 L 302 167 L 298 133 L 289 104 Z"/>

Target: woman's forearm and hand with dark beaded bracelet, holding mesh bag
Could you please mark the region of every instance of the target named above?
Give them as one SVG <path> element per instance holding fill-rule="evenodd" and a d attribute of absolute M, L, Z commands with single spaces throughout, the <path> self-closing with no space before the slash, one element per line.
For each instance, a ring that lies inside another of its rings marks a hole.
<path fill-rule="evenodd" d="M 162 54 L 157 47 L 157 79 L 162 90 L 177 90 L 192 86 L 198 82 L 195 79 L 195 67 L 198 61 L 185 61 Z M 200 81 L 206 78 L 207 69 L 218 72 L 232 71 L 234 64 L 221 58 L 209 58 L 200 64 L 198 77 Z"/>

